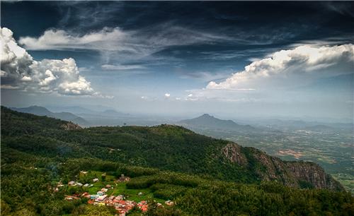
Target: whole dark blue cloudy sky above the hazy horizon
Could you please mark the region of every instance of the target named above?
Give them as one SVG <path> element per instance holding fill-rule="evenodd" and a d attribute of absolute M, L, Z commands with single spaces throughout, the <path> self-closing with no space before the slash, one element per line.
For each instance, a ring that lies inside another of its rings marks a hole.
<path fill-rule="evenodd" d="M 354 3 L 1 1 L 1 104 L 353 119 Z"/>

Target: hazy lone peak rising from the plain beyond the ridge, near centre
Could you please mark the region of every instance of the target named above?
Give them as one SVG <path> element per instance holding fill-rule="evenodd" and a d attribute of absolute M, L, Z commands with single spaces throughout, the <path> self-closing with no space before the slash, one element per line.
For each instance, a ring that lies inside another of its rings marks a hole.
<path fill-rule="evenodd" d="M 200 129 L 212 129 L 212 130 L 224 130 L 224 131 L 250 131 L 256 128 L 249 125 L 236 124 L 232 120 L 217 119 L 210 114 L 202 114 L 195 119 L 185 119 L 178 121 L 178 125 L 185 126 L 187 128 L 200 128 Z"/>

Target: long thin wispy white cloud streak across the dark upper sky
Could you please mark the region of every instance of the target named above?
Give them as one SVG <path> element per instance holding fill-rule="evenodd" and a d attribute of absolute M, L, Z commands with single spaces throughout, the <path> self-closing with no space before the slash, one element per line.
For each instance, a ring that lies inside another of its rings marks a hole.
<path fill-rule="evenodd" d="M 20 37 L 18 42 L 28 50 L 91 49 L 108 56 L 136 59 L 170 46 L 230 40 L 228 37 L 169 24 L 156 25 L 154 30 L 103 28 L 86 34 L 51 29 L 45 30 L 40 37 Z"/>

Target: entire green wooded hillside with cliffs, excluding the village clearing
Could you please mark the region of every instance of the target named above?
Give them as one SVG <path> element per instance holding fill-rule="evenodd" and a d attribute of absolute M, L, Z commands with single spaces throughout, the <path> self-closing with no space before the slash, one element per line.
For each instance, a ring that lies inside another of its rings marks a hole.
<path fill-rule="evenodd" d="M 1 107 L 2 214 L 113 215 L 84 199 L 64 200 L 68 191 L 52 191 L 58 181 L 78 179 L 81 170 L 125 174 L 132 179 L 124 190 L 176 201 L 154 208 L 151 200 L 147 215 L 354 213 L 350 193 L 313 163 L 282 162 L 181 126 L 83 129 Z"/>

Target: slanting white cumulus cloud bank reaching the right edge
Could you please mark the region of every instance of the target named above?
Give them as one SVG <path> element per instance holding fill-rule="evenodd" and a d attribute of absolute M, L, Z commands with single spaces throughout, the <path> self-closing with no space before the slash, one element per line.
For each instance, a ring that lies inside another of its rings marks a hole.
<path fill-rule="evenodd" d="M 354 45 L 303 45 L 281 50 L 253 61 L 244 71 L 234 73 L 221 83 L 210 82 L 210 90 L 258 90 L 258 88 L 295 87 L 318 78 L 353 73 Z"/>

